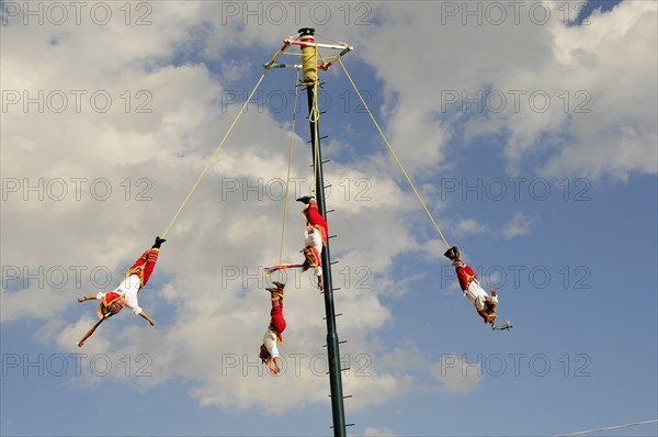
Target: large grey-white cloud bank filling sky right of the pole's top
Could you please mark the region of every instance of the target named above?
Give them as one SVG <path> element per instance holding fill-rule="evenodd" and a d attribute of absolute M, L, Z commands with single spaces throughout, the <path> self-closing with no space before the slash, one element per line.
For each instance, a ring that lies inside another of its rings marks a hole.
<path fill-rule="evenodd" d="M 390 97 L 389 136 L 412 170 L 465 159 L 462 145 L 445 148 L 463 125 L 466 139 L 503 134 L 512 173 L 537 154 L 547 155 L 536 168 L 544 176 L 656 173 L 656 2 L 623 1 L 581 26 L 565 25 L 560 2 L 542 3 L 546 22 L 522 12 L 517 23 L 508 8 L 502 24 L 481 14 L 479 25 L 465 4 L 453 15 L 441 2 L 381 3 L 386 25 L 355 34 Z M 412 51 L 398 44 L 410 29 Z M 481 108 L 467 103 L 488 90 Z"/>

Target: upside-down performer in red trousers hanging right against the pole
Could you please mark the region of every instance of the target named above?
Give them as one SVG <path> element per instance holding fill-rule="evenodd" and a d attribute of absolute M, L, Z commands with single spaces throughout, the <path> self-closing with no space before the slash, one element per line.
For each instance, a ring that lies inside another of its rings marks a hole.
<path fill-rule="evenodd" d="M 304 229 L 304 257 L 305 261 L 302 265 L 302 271 L 310 268 L 314 269 L 318 278 L 318 289 L 324 290 L 321 253 L 322 245 L 327 244 L 327 235 L 329 229 L 327 221 L 318 211 L 318 202 L 308 195 L 297 199 L 298 202 L 306 204 L 302 210 L 302 215 L 306 218 L 306 229 Z"/>

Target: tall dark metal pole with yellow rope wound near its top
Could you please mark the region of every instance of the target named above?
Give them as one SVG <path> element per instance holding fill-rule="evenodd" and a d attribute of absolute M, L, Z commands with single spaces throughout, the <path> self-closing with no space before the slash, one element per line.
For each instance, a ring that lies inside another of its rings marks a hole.
<path fill-rule="evenodd" d="M 315 42 L 314 29 L 300 29 L 300 41 L 307 43 Z M 320 127 L 318 124 L 319 113 L 316 113 L 316 83 L 317 58 L 316 47 L 302 47 L 302 65 L 304 71 L 303 86 L 306 86 L 308 97 L 308 121 L 310 124 L 310 145 L 313 150 L 314 170 L 316 175 L 315 195 L 318 202 L 318 211 L 327 220 L 327 205 L 325 203 L 325 182 L 322 172 L 322 154 L 320 149 Z M 317 152 L 317 156 L 316 156 Z M 317 166 L 317 168 L 316 168 Z M 328 223 L 329 221 L 327 221 Z M 327 313 L 327 352 L 329 356 L 329 384 L 331 388 L 331 412 L 333 416 L 333 435 L 344 437 L 345 433 L 345 413 L 343 406 L 342 378 L 340 369 L 340 350 L 338 333 L 336 332 L 336 311 L 333 309 L 333 284 L 331 283 L 331 256 L 329 251 L 329 240 L 322 249 L 322 281 L 325 282 L 325 311 Z"/>

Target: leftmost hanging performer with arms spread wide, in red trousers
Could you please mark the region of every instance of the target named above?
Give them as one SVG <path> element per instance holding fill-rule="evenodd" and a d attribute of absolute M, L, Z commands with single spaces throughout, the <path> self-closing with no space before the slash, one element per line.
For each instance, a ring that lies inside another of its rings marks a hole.
<path fill-rule="evenodd" d="M 90 300 L 100 300 L 101 304 L 97 310 L 99 318 L 104 318 L 110 315 L 118 313 L 124 306 L 133 310 L 133 314 L 139 315 L 151 326 L 156 322 L 141 309 L 137 301 L 137 293 L 150 278 L 160 254 L 160 246 L 166 239 L 156 237 L 156 243 L 152 247 L 146 250 L 137 261 L 131 267 L 125 279 L 118 284 L 118 287 L 107 293 L 99 292 L 98 294 L 86 295 L 78 299 L 78 302 L 84 302 Z"/>

